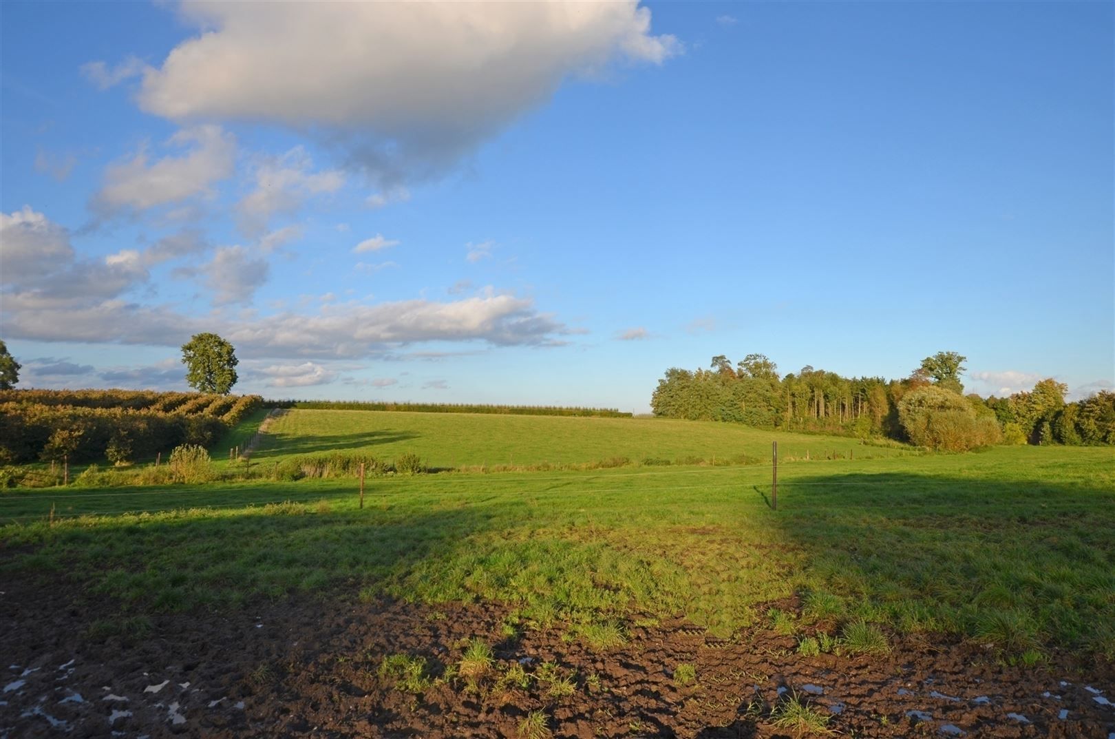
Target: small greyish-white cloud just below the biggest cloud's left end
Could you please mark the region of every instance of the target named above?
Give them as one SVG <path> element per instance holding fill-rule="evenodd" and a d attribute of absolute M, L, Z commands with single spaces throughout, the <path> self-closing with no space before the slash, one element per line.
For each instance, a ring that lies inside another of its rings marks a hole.
<path fill-rule="evenodd" d="M 93 199 L 94 210 L 110 215 L 180 203 L 210 193 L 216 182 L 233 173 L 236 140 L 220 126 L 185 128 L 167 143 L 186 152 L 152 161 L 144 146 L 130 160 L 105 170 L 104 183 Z"/>

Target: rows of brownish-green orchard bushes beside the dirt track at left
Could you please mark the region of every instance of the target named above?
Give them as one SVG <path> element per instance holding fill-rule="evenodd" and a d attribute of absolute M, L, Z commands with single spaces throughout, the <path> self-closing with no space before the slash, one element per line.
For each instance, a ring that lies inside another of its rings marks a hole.
<path fill-rule="evenodd" d="M 262 404 L 259 395 L 4 391 L 0 463 L 43 459 L 59 431 L 75 439 L 71 462 L 151 458 L 180 444 L 209 447 Z"/>

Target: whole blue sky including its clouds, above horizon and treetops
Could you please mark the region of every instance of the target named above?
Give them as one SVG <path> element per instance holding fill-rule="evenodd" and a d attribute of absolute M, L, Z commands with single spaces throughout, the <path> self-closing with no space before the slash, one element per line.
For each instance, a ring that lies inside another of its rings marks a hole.
<path fill-rule="evenodd" d="M 1113 6 L 0 6 L 21 386 L 644 412 L 759 352 L 1115 381 Z"/>

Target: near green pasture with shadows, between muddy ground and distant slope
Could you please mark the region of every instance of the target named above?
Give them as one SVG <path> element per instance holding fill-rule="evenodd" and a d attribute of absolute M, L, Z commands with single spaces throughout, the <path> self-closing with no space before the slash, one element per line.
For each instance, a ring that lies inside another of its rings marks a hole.
<path fill-rule="evenodd" d="M 70 570 L 140 612 L 327 586 L 488 598 L 574 635 L 678 612 L 725 633 L 805 592 L 828 622 L 1115 658 L 1113 461 L 1109 449 L 1000 448 L 791 463 L 777 511 L 760 467 L 387 478 L 363 510 L 350 480 L 20 491 L 0 496 L 0 520 L 33 519 L 0 528 L 0 573 Z M 245 507 L 282 500 L 300 502 Z M 51 501 L 181 510 L 50 527 Z"/>

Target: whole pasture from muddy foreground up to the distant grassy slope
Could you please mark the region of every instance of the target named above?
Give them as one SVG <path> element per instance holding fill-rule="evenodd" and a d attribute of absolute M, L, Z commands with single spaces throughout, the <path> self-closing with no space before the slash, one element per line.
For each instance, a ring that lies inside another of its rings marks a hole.
<path fill-rule="evenodd" d="M 639 464 L 755 462 L 772 440 L 777 510 L 765 462 Z M 145 685 L 164 679 L 200 691 L 176 691 L 175 711 L 213 736 L 1115 731 L 1093 700 L 1115 684 L 1112 450 L 854 444 L 292 412 L 261 467 L 340 450 L 636 464 L 380 477 L 362 508 L 351 479 L 6 491 L 17 601 L 0 602 L 0 639 L 21 670 L 78 660 L 68 689 L 110 687 L 153 736 L 166 708 Z M 17 729 L 42 721 L 23 708 Z M 108 726 L 88 701 L 50 716 Z"/>

